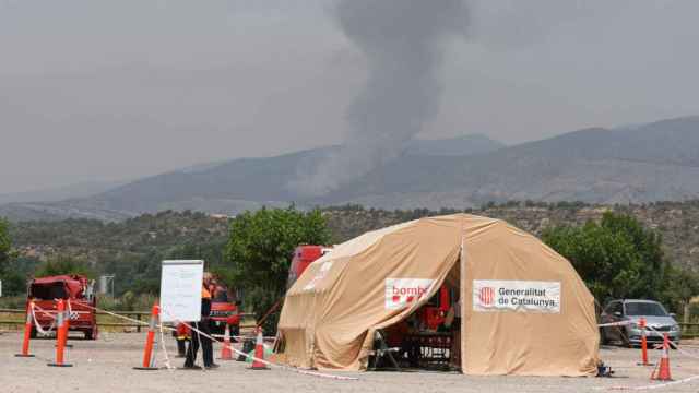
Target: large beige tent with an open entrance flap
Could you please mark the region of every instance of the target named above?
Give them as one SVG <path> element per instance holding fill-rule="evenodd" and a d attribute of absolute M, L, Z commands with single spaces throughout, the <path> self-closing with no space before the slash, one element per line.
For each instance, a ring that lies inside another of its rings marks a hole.
<path fill-rule="evenodd" d="M 594 299 L 570 263 L 505 222 L 465 214 L 370 231 L 313 262 L 286 295 L 280 359 L 366 369 L 374 332 L 446 281 L 463 299 L 465 373 L 595 374 Z"/>

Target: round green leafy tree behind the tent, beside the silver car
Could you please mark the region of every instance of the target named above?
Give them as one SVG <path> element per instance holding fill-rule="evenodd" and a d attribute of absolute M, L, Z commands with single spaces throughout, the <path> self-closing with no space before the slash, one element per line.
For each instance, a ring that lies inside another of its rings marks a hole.
<path fill-rule="evenodd" d="M 630 215 L 607 212 L 599 224 L 554 227 L 542 238 L 572 263 L 600 302 L 666 294 L 670 264 L 661 237 Z"/>

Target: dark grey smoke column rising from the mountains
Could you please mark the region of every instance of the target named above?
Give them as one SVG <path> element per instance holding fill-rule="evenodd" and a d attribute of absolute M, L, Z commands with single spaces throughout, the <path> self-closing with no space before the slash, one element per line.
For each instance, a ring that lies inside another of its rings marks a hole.
<path fill-rule="evenodd" d="M 341 0 L 337 22 L 367 58 L 369 78 L 347 111 L 340 152 L 292 188 L 322 195 L 394 158 L 439 108 L 447 39 L 463 34 L 462 0 Z"/>

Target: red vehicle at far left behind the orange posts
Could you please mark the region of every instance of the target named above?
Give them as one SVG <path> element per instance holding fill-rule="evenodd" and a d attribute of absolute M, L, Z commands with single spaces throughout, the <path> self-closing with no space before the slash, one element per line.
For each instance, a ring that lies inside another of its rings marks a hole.
<path fill-rule="evenodd" d="M 95 315 L 97 298 L 93 291 L 94 282 L 83 275 L 59 275 L 34 278 L 27 290 L 26 310 L 29 312 L 29 300 L 34 300 L 36 322 L 42 330 L 55 327 L 58 299 L 69 300 L 70 331 L 82 332 L 87 340 L 97 340 L 98 329 Z M 36 337 L 37 329 L 32 329 L 32 337 Z"/>

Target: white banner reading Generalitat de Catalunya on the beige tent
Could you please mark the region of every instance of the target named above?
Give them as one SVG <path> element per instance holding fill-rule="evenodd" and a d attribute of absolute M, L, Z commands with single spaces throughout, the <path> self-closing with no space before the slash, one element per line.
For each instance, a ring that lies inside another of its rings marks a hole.
<path fill-rule="evenodd" d="M 560 282 L 474 279 L 473 311 L 560 313 Z"/>

